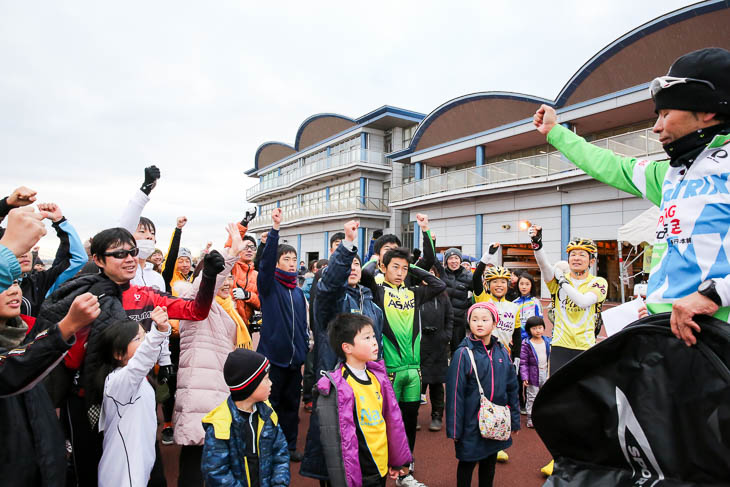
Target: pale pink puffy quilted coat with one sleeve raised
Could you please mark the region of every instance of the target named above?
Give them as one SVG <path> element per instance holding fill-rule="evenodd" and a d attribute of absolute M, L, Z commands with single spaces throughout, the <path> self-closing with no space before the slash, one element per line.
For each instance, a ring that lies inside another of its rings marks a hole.
<path fill-rule="evenodd" d="M 225 256 L 226 264 L 216 279 L 216 293 L 231 273 L 237 256 Z M 178 283 L 180 297 L 198 292 L 200 277 L 193 284 Z M 236 348 L 236 323 L 215 301 L 208 318 L 202 321 L 180 321 L 180 362 L 175 396 L 175 443 L 202 445 L 205 430 L 203 416 L 226 400 L 230 391 L 223 379 L 223 364 Z"/>

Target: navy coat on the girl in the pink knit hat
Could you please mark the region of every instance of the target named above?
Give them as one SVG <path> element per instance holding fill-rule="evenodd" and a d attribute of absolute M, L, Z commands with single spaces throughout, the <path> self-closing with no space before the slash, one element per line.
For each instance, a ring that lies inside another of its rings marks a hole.
<path fill-rule="evenodd" d="M 509 406 L 512 431 L 520 429 L 520 405 L 517 374 L 504 346 L 492 335 L 491 351 L 488 351 L 481 340 L 471 334 L 467 335 L 454 352 L 446 380 L 446 436 L 458 440 L 457 459 L 477 462 L 511 446 L 512 438 L 507 441 L 482 438 L 477 419 L 480 405 L 479 388 L 467 349 L 471 349 L 474 353 L 479 380 L 487 399 L 491 398 L 491 401 L 499 406 Z M 492 370 L 494 370 L 494 382 L 492 382 Z"/>

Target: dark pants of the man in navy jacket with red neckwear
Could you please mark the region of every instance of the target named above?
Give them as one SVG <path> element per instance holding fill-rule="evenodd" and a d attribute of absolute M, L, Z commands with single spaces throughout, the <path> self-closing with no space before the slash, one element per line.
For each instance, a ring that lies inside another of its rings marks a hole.
<path fill-rule="evenodd" d="M 297 448 L 299 429 L 299 399 L 302 395 L 302 365 L 278 367 L 271 364 L 271 406 L 279 416 L 279 424 L 284 431 L 289 450 Z"/>

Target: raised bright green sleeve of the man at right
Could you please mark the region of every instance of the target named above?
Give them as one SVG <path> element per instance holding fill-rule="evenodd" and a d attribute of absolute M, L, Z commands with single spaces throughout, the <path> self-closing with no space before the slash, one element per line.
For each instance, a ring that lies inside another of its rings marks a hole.
<path fill-rule="evenodd" d="M 562 125 L 550 130 L 547 141 L 592 178 L 646 198 L 657 206 L 661 204 L 662 183 L 669 169 L 669 161 L 621 157 L 613 151 L 586 142 L 583 137 Z"/>

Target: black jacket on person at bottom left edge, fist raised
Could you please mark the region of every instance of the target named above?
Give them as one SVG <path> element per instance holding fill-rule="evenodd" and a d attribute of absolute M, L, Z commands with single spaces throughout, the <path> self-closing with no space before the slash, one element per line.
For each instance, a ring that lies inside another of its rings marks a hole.
<path fill-rule="evenodd" d="M 64 341 L 54 323 L 32 341 L 0 349 L 0 485 L 66 484 L 61 425 L 38 382 L 61 360 L 71 340 Z"/>

